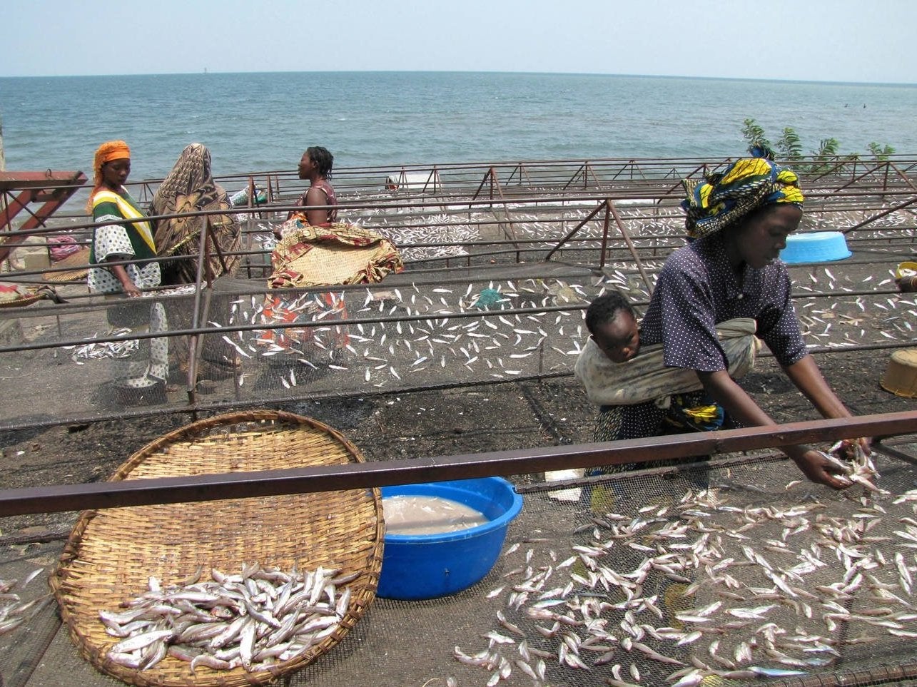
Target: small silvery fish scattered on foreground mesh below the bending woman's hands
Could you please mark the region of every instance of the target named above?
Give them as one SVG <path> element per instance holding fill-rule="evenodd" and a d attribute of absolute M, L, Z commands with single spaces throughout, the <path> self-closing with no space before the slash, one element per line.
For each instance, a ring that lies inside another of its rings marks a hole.
<path fill-rule="evenodd" d="M 565 670 L 691 687 L 803 675 L 883 637 L 912 642 L 917 490 L 844 494 L 739 506 L 690 490 L 634 515 L 593 513 L 577 529 L 590 540 L 563 560 L 516 543 L 503 555 L 525 560 L 487 594 L 505 604 L 481 635 L 488 646 L 454 656 L 487 670 L 489 687 L 514 673 L 566 683 Z"/>

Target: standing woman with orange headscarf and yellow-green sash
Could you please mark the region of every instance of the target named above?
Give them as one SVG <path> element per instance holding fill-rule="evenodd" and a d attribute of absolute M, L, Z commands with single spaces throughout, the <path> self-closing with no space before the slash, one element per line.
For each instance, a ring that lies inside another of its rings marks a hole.
<path fill-rule="evenodd" d="M 152 227 L 124 183 L 130 173 L 130 149 L 123 140 L 103 143 L 95 151 L 94 187 L 87 210 L 93 213 L 95 228 L 89 254 L 89 290 L 107 298 L 131 300 L 144 289 L 160 285 L 160 264 Z M 139 303 L 114 304 L 108 309 L 113 327 L 133 332 L 167 330 L 165 310 L 160 303 L 149 307 Z M 169 372 L 168 338 L 138 339 L 138 349 L 125 360 L 116 378 L 122 401 L 163 400 Z"/>

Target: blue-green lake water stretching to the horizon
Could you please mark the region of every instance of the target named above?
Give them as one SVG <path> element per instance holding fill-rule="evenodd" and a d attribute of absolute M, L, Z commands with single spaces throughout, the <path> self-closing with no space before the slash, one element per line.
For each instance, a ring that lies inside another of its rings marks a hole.
<path fill-rule="evenodd" d="M 199 141 L 217 175 L 336 167 L 728 157 L 743 121 L 866 153 L 917 152 L 917 85 L 500 72 L 279 72 L 0 78 L 6 169 L 83 170 L 126 139 L 132 181 Z"/>

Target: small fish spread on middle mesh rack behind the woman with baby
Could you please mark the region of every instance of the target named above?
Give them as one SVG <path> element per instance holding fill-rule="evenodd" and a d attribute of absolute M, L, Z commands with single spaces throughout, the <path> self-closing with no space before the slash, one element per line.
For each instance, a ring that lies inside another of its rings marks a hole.
<path fill-rule="evenodd" d="M 653 267 L 660 265 L 658 261 Z M 646 266 L 651 268 L 649 262 Z M 826 288 L 831 288 L 833 280 L 826 278 Z M 624 269 L 624 263 L 621 269 L 609 264 L 602 278 L 581 284 L 525 279 L 367 289 L 361 305 L 354 303 L 359 298 L 354 292 L 284 296 L 281 302 L 277 296 L 267 301 L 250 296 L 232 303 L 228 325 L 253 329 L 223 338 L 240 360 L 289 366 L 280 380 L 287 389 L 311 379 L 304 372 L 319 366 L 349 371 L 355 382 L 380 388 L 403 384 L 407 375 L 416 383 L 419 373 L 434 374 L 437 368 L 467 378 L 521 378 L 546 369 L 569 369 L 570 359 L 580 354 L 586 337 L 580 307 L 609 288 L 623 291 L 635 302 L 648 299 L 646 283 L 635 271 Z M 494 293 L 498 300 L 482 307 L 482 294 L 492 298 Z M 871 317 L 867 322 L 862 309 L 878 307 L 873 300 L 856 296 L 846 304 L 863 315 L 859 317 L 845 316 L 837 309 L 845 305 L 842 299 L 835 298 L 819 310 L 812 307 L 814 300 L 801 297 L 798 308 L 812 340 L 810 347 L 855 346 L 871 342 L 870 333 L 877 331 L 882 340 L 912 337 L 909 317 L 903 312 L 909 302 L 889 298 L 889 309 L 897 307 L 902 314 L 882 322 Z M 558 310 L 558 306 L 569 309 Z M 348 324 L 355 318 L 373 317 L 381 321 Z M 297 326 L 262 328 L 273 323 Z M 209 324 L 221 327 L 215 321 Z M 856 333 L 852 327 L 858 327 Z"/>

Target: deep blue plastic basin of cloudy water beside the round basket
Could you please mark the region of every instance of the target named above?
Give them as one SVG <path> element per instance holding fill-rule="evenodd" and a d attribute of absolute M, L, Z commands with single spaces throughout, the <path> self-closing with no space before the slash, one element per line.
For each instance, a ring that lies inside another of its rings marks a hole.
<path fill-rule="evenodd" d="M 480 511 L 490 522 L 432 535 L 385 535 L 378 596 L 435 599 L 480 582 L 497 562 L 522 496 L 500 477 L 382 487 L 387 496 L 439 496 Z"/>

